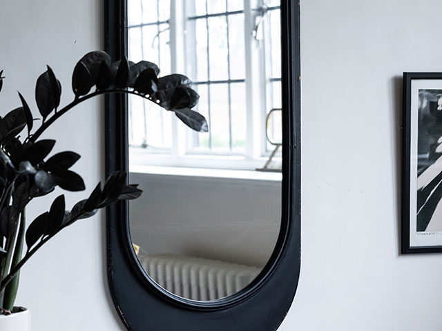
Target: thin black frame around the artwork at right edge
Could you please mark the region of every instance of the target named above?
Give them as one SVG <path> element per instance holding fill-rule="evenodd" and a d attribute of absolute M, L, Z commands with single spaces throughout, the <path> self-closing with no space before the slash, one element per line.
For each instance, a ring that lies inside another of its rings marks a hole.
<path fill-rule="evenodd" d="M 412 114 L 412 81 L 418 79 L 442 79 L 442 72 L 404 72 L 403 73 L 403 124 L 402 124 L 402 229 L 401 252 L 438 253 L 442 252 L 442 245 L 410 246 L 410 143 L 411 143 L 411 114 Z"/>

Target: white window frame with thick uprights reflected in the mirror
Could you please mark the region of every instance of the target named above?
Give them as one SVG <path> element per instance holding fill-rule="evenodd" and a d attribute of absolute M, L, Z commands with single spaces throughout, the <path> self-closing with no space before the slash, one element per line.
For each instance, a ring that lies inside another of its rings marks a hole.
<path fill-rule="evenodd" d="M 186 74 L 185 63 L 189 61 L 189 54 L 186 52 L 186 0 L 171 0 L 170 27 L 170 48 L 171 48 L 171 72 L 183 72 Z M 223 1 L 223 0 L 221 0 Z M 201 150 L 192 148 L 192 134 L 189 128 L 177 119 L 172 117 L 172 148 L 153 148 L 148 146 L 142 148 L 138 146 L 129 147 L 129 157 L 131 163 L 135 165 L 153 166 L 173 166 L 184 168 L 215 168 L 233 170 L 255 170 L 262 168 L 267 161 L 271 150 L 268 150 L 265 134 L 265 122 L 267 112 L 271 110 L 271 100 L 267 98 L 268 93 L 262 93 L 262 89 L 270 91 L 269 88 L 269 66 L 263 66 L 265 59 L 269 58 L 266 52 L 266 43 L 257 41 L 253 35 L 256 28 L 256 12 L 253 8 L 258 8 L 263 0 L 244 0 L 244 46 L 245 46 L 245 88 L 247 106 L 247 128 L 246 147 L 244 154 L 235 154 L 232 151 L 213 152 L 211 150 Z M 177 14 L 182 13 L 182 15 Z M 222 15 L 224 16 L 224 15 Z M 263 22 L 266 23 L 265 21 Z M 129 28 L 131 28 L 129 26 Z M 253 48 L 259 48 L 258 52 Z M 182 54 L 185 54 L 183 57 Z M 259 64 L 257 64 L 259 63 Z M 253 68 L 260 68 L 258 79 Z M 259 96 L 254 98 L 253 95 Z M 253 109 L 259 108 L 259 112 Z M 165 111 L 159 108 L 159 111 Z M 182 139 L 186 137 L 186 139 Z M 258 141 L 259 143 L 256 143 Z M 280 153 L 276 159 L 280 159 Z"/>

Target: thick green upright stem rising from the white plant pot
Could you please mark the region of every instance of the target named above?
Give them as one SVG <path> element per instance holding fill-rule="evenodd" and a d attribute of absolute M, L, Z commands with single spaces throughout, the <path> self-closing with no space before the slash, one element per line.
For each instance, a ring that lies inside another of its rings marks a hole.
<path fill-rule="evenodd" d="M 25 209 L 26 210 L 26 209 Z M 17 237 L 17 243 L 15 243 L 14 257 L 12 257 L 11 270 L 14 269 L 21 261 L 21 254 L 23 252 L 23 243 L 25 241 L 26 232 L 26 211 L 21 212 L 20 228 Z M 3 301 L 3 308 L 12 310 L 14 308 L 15 298 L 17 297 L 17 291 L 19 289 L 20 271 L 17 272 L 12 281 L 5 289 L 5 297 Z"/>

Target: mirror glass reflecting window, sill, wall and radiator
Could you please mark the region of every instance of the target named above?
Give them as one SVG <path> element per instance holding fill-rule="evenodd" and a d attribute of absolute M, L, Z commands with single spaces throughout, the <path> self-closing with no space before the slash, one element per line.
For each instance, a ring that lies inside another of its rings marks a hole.
<path fill-rule="evenodd" d="M 277 0 L 128 0 L 129 59 L 189 77 L 209 122 L 193 132 L 129 98 L 129 170 L 144 191 L 129 204 L 131 241 L 146 274 L 177 296 L 235 294 L 275 248 L 280 50 Z"/>

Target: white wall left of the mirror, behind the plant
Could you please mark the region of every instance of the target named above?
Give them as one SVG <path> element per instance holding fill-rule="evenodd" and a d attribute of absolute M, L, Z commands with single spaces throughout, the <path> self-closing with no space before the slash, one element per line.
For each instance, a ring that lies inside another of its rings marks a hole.
<path fill-rule="evenodd" d="M 35 81 L 46 64 L 61 81 L 61 104 L 70 102 L 75 63 L 103 45 L 102 1 L 2 0 L 0 8 L 0 68 L 6 77 L 1 114 L 19 106 L 17 90 L 38 114 Z M 88 192 L 104 171 L 103 118 L 102 102 L 87 101 L 46 135 L 57 139 L 56 150 L 81 154 L 75 170 L 84 177 Z M 55 194 L 59 192 L 52 198 Z M 66 204 L 86 194 L 68 194 Z M 48 199 L 33 203 L 29 218 L 48 208 L 48 203 Z M 80 221 L 60 232 L 24 266 L 17 304 L 30 308 L 33 331 L 122 330 L 108 299 L 104 230 L 104 214 Z"/>

